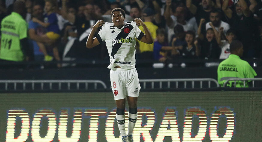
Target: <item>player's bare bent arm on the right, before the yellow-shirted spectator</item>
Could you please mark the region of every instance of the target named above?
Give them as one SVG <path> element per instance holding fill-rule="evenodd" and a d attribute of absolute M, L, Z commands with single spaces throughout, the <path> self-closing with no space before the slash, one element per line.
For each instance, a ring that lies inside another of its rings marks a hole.
<path fill-rule="evenodd" d="M 140 41 L 142 41 L 143 43 L 147 43 L 147 44 L 154 43 L 153 37 L 152 37 L 150 31 L 148 30 L 148 28 L 146 27 L 146 24 L 140 18 L 135 18 L 135 22 L 138 26 L 142 26 L 144 28 L 144 31 L 145 31 L 145 34 L 140 39 Z"/>

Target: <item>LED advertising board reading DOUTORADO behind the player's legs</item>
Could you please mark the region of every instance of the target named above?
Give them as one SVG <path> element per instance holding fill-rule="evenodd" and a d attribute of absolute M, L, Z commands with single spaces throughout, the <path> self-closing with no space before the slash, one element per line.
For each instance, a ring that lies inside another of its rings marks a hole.
<path fill-rule="evenodd" d="M 112 92 L 3 93 L 0 101 L 0 141 L 121 142 Z M 261 122 L 261 91 L 141 92 L 133 137 L 260 142 Z"/>

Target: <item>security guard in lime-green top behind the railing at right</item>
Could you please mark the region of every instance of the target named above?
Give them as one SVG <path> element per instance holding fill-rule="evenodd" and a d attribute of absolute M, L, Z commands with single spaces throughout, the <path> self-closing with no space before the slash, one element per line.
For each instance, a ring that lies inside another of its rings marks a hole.
<path fill-rule="evenodd" d="M 257 73 L 248 64 L 248 62 L 241 60 L 240 57 L 243 55 L 243 45 L 239 40 L 233 40 L 229 46 L 230 53 L 229 57 L 222 61 L 217 70 L 218 83 L 223 86 L 229 78 L 254 78 Z M 244 87 L 243 81 L 230 81 L 227 87 Z M 245 87 L 250 86 L 250 81 L 246 81 Z"/>

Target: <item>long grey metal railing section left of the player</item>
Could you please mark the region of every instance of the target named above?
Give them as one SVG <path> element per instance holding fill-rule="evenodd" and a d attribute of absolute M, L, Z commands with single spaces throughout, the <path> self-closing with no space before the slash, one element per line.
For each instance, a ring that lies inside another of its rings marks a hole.
<path fill-rule="evenodd" d="M 58 90 L 62 89 L 62 84 L 67 84 L 68 90 L 71 89 L 71 85 L 75 84 L 76 90 L 80 89 L 80 84 L 83 84 L 85 90 L 88 90 L 88 84 L 94 84 L 94 89 L 97 89 L 98 84 L 101 84 L 104 89 L 107 88 L 106 84 L 103 81 L 100 80 L 0 80 L 0 84 L 5 84 L 5 89 L 4 90 L 9 90 L 8 85 L 13 84 L 13 89 L 17 90 L 17 85 L 22 84 L 23 87 L 22 90 L 26 90 L 26 86 L 29 84 L 31 86 L 32 90 L 35 89 L 36 84 L 40 84 L 40 90 L 44 90 L 44 84 L 49 84 L 49 90 L 54 90 L 53 85 L 58 84 Z"/>

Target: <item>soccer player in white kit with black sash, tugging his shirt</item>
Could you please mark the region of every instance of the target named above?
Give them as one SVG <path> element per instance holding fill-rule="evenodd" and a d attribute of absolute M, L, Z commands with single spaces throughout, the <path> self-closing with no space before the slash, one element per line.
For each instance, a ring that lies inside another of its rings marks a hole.
<path fill-rule="evenodd" d="M 105 40 L 110 56 L 110 81 L 114 99 L 116 100 L 116 119 L 121 133 L 122 141 L 133 141 L 133 129 L 137 120 L 137 98 L 140 91 L 137 70 L 135 69 L 135 45 L 137 40 L 147 44 L 153 43 L 145 23 L 138 18 L 134 22 L 124 23 L 125 11 L 115 8 L 111 11 L 113 23 L 99 20 L 93 26 L 86 41 L 86 47 L 92 48 Z M 142 26 L 145 34 L 137 26 Z M 102 26 L 96 37 L 95 31 Z M 125 98 L 127 98 L 128 133 L 125 132 Z"/>

